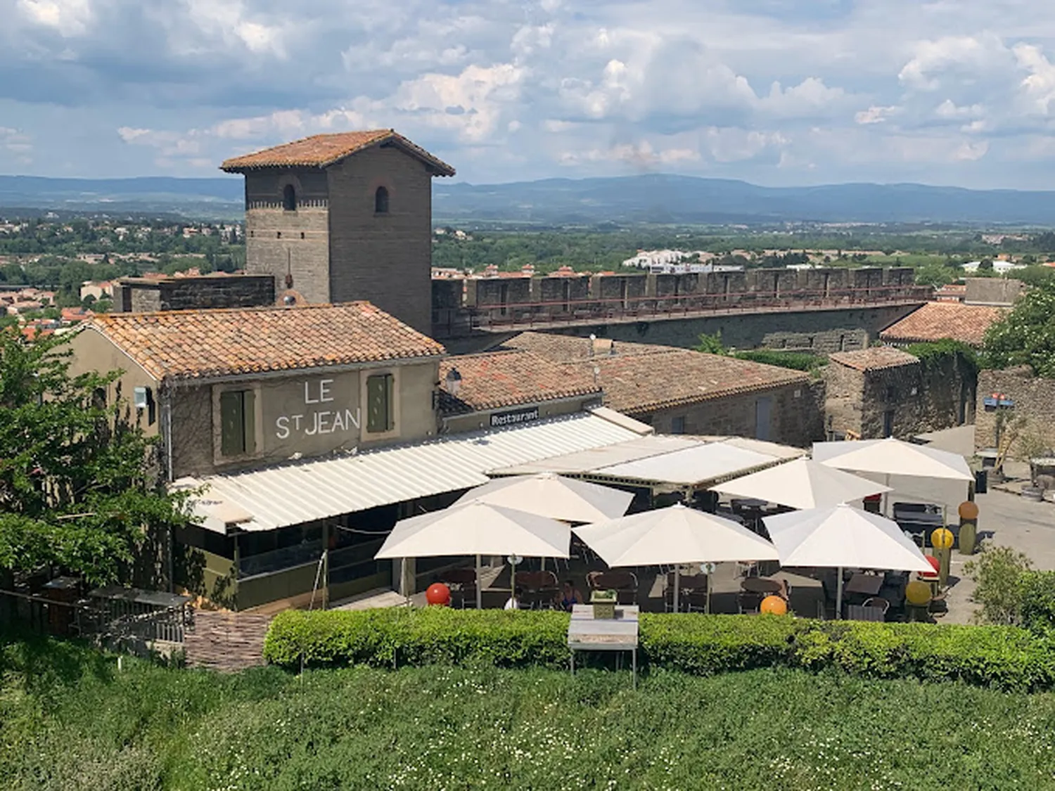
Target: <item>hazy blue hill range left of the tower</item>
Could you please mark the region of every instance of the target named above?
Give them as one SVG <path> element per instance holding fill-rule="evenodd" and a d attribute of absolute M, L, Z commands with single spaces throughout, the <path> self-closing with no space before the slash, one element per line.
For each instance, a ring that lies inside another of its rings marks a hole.
<path fill-rule="evenodd" d="M 57 211 L 174 212 L 238 216 L 244 211 L 241 177 L 44 178 L 0 176 L 0 209 Z"/>

